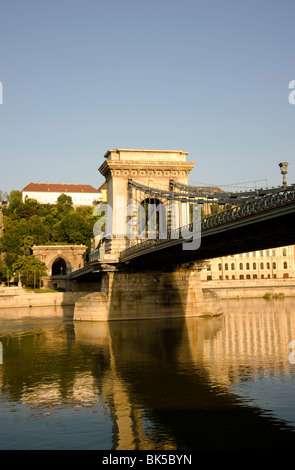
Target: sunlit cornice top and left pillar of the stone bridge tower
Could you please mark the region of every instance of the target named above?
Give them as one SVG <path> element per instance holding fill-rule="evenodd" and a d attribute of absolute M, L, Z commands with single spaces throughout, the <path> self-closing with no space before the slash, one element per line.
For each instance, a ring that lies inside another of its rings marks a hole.
<path fill-rule="evenodd" d="M 118 258 L 120 251 L 130 246 L 126 237 L 127 206 L 140 204 L 128 188 L 130 180 L 139 184 L 170 189 L 170 181 L 187 184 L 189 172 L 195 166 L 187 162 L 188 152 L 180 150 L 108 150 L 99 168 L 107 182 L 108 206 L 112 208 L 112 237 L 105 242 L 105 253 Z M 122 217 L 122 212 L 124 216 Z M 130 215 L 130 214 L 129 214 Z"/>

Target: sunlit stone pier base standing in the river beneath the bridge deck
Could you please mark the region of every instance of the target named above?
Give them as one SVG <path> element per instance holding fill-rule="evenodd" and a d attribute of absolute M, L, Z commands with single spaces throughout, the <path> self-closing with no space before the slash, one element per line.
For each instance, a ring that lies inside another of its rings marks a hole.
<path fill-rule="evenodd" d="M 173 317 L 216 316 L 221 301 L 203 292 L 200 263 L 172 271 L 101 273 L 101 292 L 82 297 L 74 320 L 108 321 Z"/>

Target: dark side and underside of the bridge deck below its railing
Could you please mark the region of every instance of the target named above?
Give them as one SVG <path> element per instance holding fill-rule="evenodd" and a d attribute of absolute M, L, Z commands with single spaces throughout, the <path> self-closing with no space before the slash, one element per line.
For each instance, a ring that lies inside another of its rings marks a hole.
<path fill-rule="evenodd" d="M 229 219 L 217 214 L 202 222 L 201 245 L 183 249 L 183 239 L 148 240 L 122 252 L 120 261 L 136 265 L 177 264 L 249 251 L 291 245 L 295 242 L 295 200 L 273 207 L 237 213 Z"/>

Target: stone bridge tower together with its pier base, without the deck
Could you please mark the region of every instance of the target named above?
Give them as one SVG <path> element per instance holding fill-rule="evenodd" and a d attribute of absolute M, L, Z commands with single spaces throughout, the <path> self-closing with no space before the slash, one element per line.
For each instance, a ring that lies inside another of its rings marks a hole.
<path fill-rule="evenodd" d="M 220 314 L 220 303 L 213 293 L 203 293 L 201 288 L 202 262 L 190 264 L 122 262 L 123 251 L 138 243 L 139 233 L 151 239 L 151 226 L 146 215 L 140 222 L 138 208 L 146 210 L 158 204 L 164 211 L 164 225 L 178 229 L 188 223 L 188 203 L 183 198 L 177 202 L 179 213 L 169 212 L 171 181 L 187 184 L 194 162 L 186 161 L 188 152 L 161 150 L 109 150 L 99 168 L 107 182 L 108 224 L 106 233 L 95 238 L 97 257 L 91 257 L 95 266 L 93 279 L 101 281 L 100 292 L 90 292 L 76 303 L 75 320 L 122 320 L 138 318 L 163 318 L 208 316 Z M 133 182 L 133 183 L 132 183 Z M 146 194 L 145 186 L 157 185 L 163 193 L 155 198 Z M 170 194 L 170 193 L 169 193 Z M 168 194 L 168 195 L 169 195 Z M 128 211 L 129 208 L 129 211 Z M 145 209 L 144 209 L 145 208 Z M 130 212 L 131 209 L 131 212 Z M 103 208 L 100 208 L 100 211 Z M 135 218 L 133 217 L 135 212 Z M 111 214 L 111 215 L 110 215 Z M 128 236 L 127 227 L 133 219 L 135 232 Z M 172 220 L 173 219 L 173 220 Z M 143 231 L 140 227 L 143 222 Z M 159 226 L 156 227 L 159 231 Z M 156 230 L 156 231 L 157 231 Z M 111 236 L 109 236 L 111 232 Z M 107 236 L 108 235 L 108 236 Z M 85 282 L 87 280 L 85 279 Z"/>

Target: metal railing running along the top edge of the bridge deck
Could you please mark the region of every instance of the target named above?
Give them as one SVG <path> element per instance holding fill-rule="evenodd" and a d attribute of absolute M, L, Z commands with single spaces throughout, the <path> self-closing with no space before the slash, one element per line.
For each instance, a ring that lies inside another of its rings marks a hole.
<path fill-rule="evenodd" d="M 256 213 L 271 209 L 275 206 L 286 204 L 291 201 L 295 201 L 295 185 L 289 186 L 288 188 L 281 188 L 280 192 L 276 191 L 274 194 L 260 196 L 255 200 L 245 202 L 230 209 L 224 209 L 217 214 L 206 216 L 201 221 L 201 230 L 206 230 L 208 228 L 216 227 L 233 220 L 254 215 Z M 138 243 L 127 248 L 126 250 L 123 250 L 120 257 L 123 259 L 125 256 L 134 252 L 159 246 L 175 239 L 185 241 L 187 240 L 187 234 L 191 234 L 193 237 L 194 228 L 194 223 L 190 223 L 186 226 L 168 231 L 167 234 L 165 234 L 165 237 L 161 237 L 161 235 L 159 235 L 154 239 L 138 240 Z M 185 237 L 183 235 L 185 235 Z"/>

